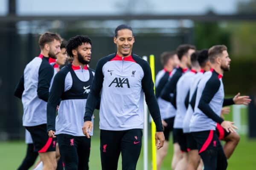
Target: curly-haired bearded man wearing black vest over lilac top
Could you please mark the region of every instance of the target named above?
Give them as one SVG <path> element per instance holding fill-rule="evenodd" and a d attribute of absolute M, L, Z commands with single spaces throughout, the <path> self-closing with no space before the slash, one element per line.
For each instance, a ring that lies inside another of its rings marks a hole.
<path fill-rule="evenodd" d="M 47 132 L 49 137 L 58 138 L 65 170 L 89 169 L 91 141 L 84 136 L 81 127 L 94 77 L 94 71 L 86 66 L 91 58 L 91 45 L 89 37 L 78 35 L 70 38 L 66 48 L 73 62 L 55 75 L 49 94 Z M 58 115 L 55 118 L 57 105 Z"/>

